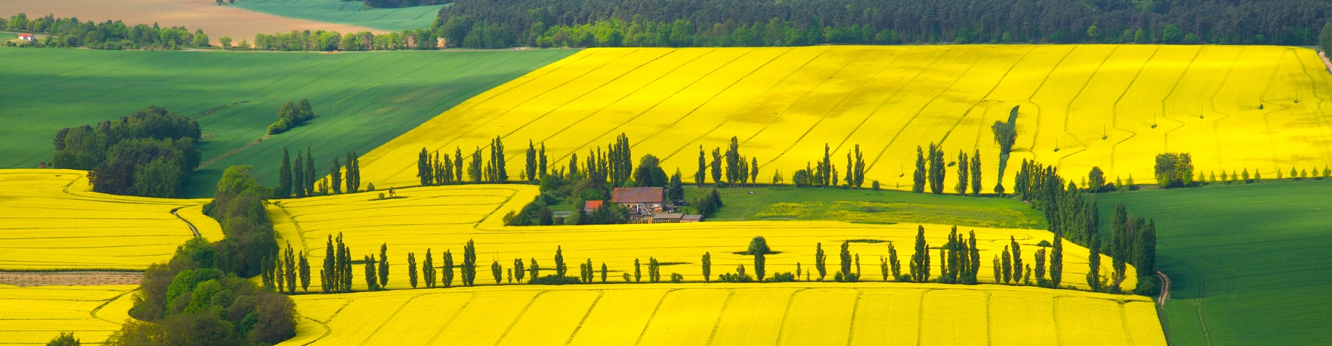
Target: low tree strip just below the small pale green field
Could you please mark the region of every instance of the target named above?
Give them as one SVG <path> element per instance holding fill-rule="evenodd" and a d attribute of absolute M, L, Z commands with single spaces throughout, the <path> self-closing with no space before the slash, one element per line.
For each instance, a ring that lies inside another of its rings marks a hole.
<path fill-rule="evenodd" d="M 230 37 L 220 41 L 224 49 L 232 49 Z M 333 52 L 333 51 L 402 51 L 440 49 L 440 28 L 405 29 L 402 32 L 372 33 L 352 32 L 342 35 L 336 31 L 292 31 L 288 33 L 257 33 L 254 44 L 241 41 L 236 49 L 285 51 L 285 52 Z"/>

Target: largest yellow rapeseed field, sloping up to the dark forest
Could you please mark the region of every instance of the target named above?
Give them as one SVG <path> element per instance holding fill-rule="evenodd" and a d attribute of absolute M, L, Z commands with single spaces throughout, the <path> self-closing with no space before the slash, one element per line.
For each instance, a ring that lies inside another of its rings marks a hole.
<path fill-rule="evenodd" d="M 1014 106 L 1023 158 L 1079 181 L 1152 182 L 1154 156 L 1193 154 L 1197 172 L 1276 177 L 1332 164 L 1332 76 L 1311 49 L 1239 45 L 924 45 L 586 49 L 454 106 L 361 157 L 362 180 L 416 185 L 421 148 L 469 154 L 501 136 L 509 177 L 529 140 L 554 165 L 626 133 L 634 156 L 693 180 L 698 148 L 787 176 L 831 146 L 835 166 L 860 145 L 866 178 L 907 189 L 915 148 L 980 150 L 986 190 L 998 145 L 990 125 Z M 843 172 L 844 173 L 844 172 Z M 951 173 L 950 173 L 951 174 Z M 952 176 L 948 176 L 951 180 Z M 951 182 L 946 186 L 951 186 Z"/>

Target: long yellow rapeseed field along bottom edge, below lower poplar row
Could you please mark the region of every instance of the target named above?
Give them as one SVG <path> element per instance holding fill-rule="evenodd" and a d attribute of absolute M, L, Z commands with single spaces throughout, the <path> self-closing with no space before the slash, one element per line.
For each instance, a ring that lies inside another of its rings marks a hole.
<path fill-rule="evenodd" d="M 1166 345 L 1146 297 L 995 285 L 570 285 L 294 298 L 297 337 L 280 345 Z"/>

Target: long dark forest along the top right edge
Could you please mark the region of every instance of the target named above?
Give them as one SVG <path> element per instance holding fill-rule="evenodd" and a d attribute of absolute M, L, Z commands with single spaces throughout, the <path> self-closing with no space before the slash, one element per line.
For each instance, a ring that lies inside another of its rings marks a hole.
<path fill-rule="evenodd" d="M 1332 13 L 1332 4 L 1317 0 L 1104 0 L 1086 4 L 1046 0 L 452 3 L 440 11 L 436 23 L 444 28 L 442 37 L 450 45 L 457 43 L 468 48 L 838 43 L 1313 45 L 1320 43 L 1319 32 L 1327 15 Z M 1332 37 L 1323 41 L 1332 41 Z"/>

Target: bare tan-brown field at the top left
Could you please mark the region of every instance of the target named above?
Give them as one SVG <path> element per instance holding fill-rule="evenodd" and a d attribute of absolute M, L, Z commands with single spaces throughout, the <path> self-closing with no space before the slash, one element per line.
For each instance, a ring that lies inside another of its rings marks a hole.
<path fill-rule="evenodd" d="M 4 0 L 0 1 L 0 16 L 28 13 L 28 17 L 45 16 L 79 17 L 79 20 L 105 21 L 123 20 L 125 24 L 157 23 L 161 27 L 185 27 L 190 31 L 204 29 L 217 44 L 217 39 L 230 36 L 236 43 L 254 41 L 254 33 L 278 33 L 290 31 L 337 31 L 360 32 L 385 31 L 365 27 L 332 24 L 304 19 L 289 19 L 268 13 L 252 12 L 232 7 L 214 5 L 213 0 Z"/>

